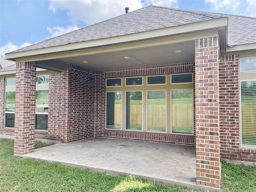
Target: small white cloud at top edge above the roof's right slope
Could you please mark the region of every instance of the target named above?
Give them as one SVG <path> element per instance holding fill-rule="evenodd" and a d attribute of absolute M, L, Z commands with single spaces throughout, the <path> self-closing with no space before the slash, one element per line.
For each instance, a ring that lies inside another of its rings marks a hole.
<path fill-rule="evenodd" d="M 226 8 L 232 11 L 235 11 L 241 4 L 238 0 L 205 0 L 205 3 L 212 4 L 215 10 Z"/>

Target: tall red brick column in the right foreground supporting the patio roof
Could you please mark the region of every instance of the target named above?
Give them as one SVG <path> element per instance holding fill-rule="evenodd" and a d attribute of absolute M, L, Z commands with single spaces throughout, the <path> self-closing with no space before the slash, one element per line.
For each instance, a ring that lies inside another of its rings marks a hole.
<path fill-rule="evenodd" d="M 195 40 L 196 183 L 220 188 L 218 37 Z"/>

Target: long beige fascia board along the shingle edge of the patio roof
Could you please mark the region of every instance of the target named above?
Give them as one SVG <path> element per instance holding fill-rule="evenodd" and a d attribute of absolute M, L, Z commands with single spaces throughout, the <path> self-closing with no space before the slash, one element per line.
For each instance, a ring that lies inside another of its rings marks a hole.
<path fill-rule="evenodd" d="M 228 17 L 216 18 L 206 21 L 200 21 L 179 26 L 166 27 L 134 34 L 103 38 L 98 40 L 90 40 L 85 42 L 76 42 L 61 46 L 52 46 L 47 48 L 39 48 L 22 52 L 10 52 L 6 54 L 8 59 L 26 58 L 31 56 L 53 54 L 60 52 L 69 52 L 74 50 L 83 50 L 89 48 L 103 47 L 124 44 L 129 42 L 139 42 L 144 40 L 156 39 L 161 37 L 175 36 L 178 34 L 189 34 L 205 30 L 211 30 L 220 27 L 227 27 Z"/>

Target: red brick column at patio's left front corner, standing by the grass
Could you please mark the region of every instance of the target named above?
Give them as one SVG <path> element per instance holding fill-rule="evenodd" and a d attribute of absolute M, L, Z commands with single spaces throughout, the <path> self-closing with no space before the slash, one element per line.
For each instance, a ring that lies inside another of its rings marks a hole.
<path fill-rule="evenodd" d="M 20 62 L 16 66 L 14 154 L 34 151 L 36 109 L 36 66 Z"/>

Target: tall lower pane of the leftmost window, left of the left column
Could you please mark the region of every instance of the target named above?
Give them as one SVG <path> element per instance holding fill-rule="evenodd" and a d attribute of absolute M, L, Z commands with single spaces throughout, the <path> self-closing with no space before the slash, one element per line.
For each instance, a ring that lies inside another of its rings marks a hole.
<path fill-rule="evenodd" d="M 5 127 L 14 128 L 15 91 L 5 92 Z"/>

